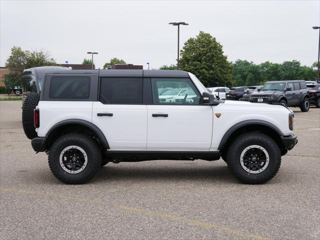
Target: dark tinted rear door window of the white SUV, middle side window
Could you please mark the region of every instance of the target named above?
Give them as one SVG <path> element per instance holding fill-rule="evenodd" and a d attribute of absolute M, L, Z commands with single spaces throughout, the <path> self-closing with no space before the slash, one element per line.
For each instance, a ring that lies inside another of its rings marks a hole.
<path fill-rule="evenodd" d="M 101 78 L 100 102 L 141 104 L 142 78 Z"/>

